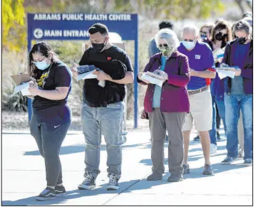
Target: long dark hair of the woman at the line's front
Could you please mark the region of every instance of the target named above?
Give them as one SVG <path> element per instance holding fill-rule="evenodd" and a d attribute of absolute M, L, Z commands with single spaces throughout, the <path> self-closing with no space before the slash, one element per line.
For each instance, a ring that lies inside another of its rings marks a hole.
<path fill-rule="evenodd" d="M 38 43 L 34 44 L 34 46 L 31 49 L 31 51 L 29 51 L 28 72 L 29 72 L 29 75 L 31 75 L 31 77 L 37 79 L 39 76 L 41 76 L 43 71 L 39 70 L 38 68 L 36 68 L 36 65 L 33 63 L 33 56 L 32 56 L 32 54 L 34 54 L 34 53 L 41 53 L 46 58 L 48 58 L 48 56 L 51 55 L 52 63 L 54 61 L 58 60 L 58 57 L 53 52 L 53 50 L 48 45 L 48 43 L 42 41 L 42 42 L 38 42 Z"/>

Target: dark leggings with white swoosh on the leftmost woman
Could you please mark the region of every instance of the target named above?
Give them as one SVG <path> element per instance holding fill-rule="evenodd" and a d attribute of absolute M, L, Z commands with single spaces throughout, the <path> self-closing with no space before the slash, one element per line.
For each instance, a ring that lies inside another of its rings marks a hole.
<path fill-rule="evenodd" d="M 45 161 L 47 186 L 62 184 L 59 151 L 70 126 L 71 109 L 68 105 L 34 111 L 29 122 L 31 135 Z"/>

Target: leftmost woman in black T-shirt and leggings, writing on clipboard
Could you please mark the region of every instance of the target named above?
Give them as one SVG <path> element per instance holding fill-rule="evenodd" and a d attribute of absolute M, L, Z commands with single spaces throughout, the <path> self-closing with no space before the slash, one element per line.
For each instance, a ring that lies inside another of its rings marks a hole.
<path fill-rule="evenodd" d="M 35 81 L 29 84 L 30 97 L 34 98 L 29 127 L 43 156 L 47 181 L 46 189 L 36 200 L 45 201 L 66 193 L 59 152 L 71 126 L 71 108 L 67 100 L 72 73 L 58 60 L 48 43 L 39 42 L 29 52 L 29 74 Z"/>

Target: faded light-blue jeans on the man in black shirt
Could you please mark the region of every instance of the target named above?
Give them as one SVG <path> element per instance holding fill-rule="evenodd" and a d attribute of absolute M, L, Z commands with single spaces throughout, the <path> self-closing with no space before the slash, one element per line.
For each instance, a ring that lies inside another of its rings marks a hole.
<path fill-rule="evenodd" d="M 82 103 L 81 119 L 86 140 L 86 173 L 97 176 L 100 173 L 101 134 L 106 141 L 108 175 L 121 176 L 121 137 L 124 117 L 124 103 L 117 102 L 107 107 L 89 107 Z M 85 173 L 85 175 L 86 175 Z"/>

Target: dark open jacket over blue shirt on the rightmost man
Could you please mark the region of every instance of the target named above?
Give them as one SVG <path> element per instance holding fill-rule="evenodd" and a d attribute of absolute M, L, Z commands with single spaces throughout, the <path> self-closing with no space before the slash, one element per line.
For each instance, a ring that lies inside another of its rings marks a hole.
<path fill-rule="evenodd" d="M 237 43 L 236 41 L 231 41 L 231 42 L 227 43 L 222 63 L 226 63 L 227 65 L 230 65 L 230 67 L 235 66 L 234 65 L 235 56 L 233 54 L 235 53 L 235 50 L 236 50 L 238 44 L 239 43 Z M 253 48 L 253 43 L 251 41 L 250 49 L 247 52 L 247 56 L 245 58 L 245 65 L 243 68 L 240 68 L 242 70 L 242 73 L 240 76 L 242 76 L 245 94 L 252 94 L 252 78 L 253 78 L 252 77 L 253 76 L 253 73 L 252 73 L 252 68 L 253 68 L 252 48 Z M 231 78 L 229 78 L 229 77 L 225 78 L 224 86 L 225 86 L 225 92 L 230 93 Z"/>

